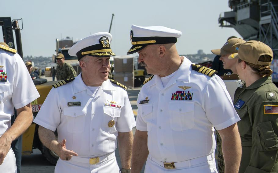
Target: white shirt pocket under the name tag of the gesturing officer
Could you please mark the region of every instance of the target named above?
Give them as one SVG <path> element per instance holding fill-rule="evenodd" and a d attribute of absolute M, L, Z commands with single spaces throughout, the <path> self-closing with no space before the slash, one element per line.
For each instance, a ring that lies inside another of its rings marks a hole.
<path fill-rule="evenodd" d="M 87 108 L 68 107 L 64 108 L 63 115 L 67 120 L 67 130 L 69 133 L 82 133 L 85 130 L 85 117 Z"/>

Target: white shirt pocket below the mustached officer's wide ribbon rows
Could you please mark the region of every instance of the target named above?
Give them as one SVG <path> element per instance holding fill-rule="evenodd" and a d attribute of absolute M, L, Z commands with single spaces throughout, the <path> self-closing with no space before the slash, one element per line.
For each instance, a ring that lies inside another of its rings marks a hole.
<path fill-rule="evenodd" d="M 194 102 L 169 102 L 170 126 L 175 131 L 192 129 L 195 125 Z"/>

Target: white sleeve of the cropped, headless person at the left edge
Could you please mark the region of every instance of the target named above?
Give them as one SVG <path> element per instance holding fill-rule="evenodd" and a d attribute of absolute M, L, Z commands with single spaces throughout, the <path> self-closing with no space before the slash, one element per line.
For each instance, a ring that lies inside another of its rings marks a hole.
<path fill-rule="evenodd" d="M 12 102 L 16 109 L 22 108 L 40 97 L 31 76 L 18 54 L 15 54 Z"/>

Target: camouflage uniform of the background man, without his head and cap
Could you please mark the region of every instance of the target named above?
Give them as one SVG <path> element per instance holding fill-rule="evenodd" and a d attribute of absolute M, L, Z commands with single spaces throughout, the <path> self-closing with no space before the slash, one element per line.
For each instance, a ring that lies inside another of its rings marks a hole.
<path fill-rule="evenodd" d="M 72 77 L 76 77 L 76 72 L 70 64 L 65 62 L 62 67 L 60 65 L 56 67 L 57 80 L 65 80 Z"/>

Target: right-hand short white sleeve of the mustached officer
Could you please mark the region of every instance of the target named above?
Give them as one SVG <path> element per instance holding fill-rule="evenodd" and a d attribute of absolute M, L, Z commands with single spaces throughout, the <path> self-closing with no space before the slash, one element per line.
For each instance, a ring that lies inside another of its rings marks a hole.
<path fill-rule="evenodd" d="M 221 130 L 240 121 L 222 79 L 213 76 L 203 90 L 202 106 L 215 129 Z"/>

